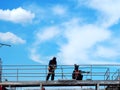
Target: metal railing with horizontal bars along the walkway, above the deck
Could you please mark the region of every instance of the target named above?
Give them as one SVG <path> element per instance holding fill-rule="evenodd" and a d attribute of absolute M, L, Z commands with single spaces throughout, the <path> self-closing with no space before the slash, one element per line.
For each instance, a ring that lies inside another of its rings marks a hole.
<path fill-rule="evenodd" d="M 120 76 L 120 65 L 79 65 L 83 80 L 113 80 Z M 47 65 L 2 65 L 2 81 L 35 81 L 46 80 Z M 72 79 L 74 65 L 58 65 L 55 70 L 55 80 Z M 117 71 L 116 71 L 117 70 Z"/>

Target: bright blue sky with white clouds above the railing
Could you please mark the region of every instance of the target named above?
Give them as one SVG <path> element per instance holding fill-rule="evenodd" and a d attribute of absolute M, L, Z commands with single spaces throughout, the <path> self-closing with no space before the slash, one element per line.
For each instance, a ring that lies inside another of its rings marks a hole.
<path fill-rule="evenodd" d="M 0 0 L 3 64 L 119 64 L 120 0 Z"/>

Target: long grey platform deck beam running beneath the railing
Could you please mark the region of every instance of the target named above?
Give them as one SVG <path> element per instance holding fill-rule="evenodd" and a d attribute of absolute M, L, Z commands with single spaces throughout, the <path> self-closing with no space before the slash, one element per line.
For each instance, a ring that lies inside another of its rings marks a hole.
<path fill-rule="evenodd" d="M 56 81 L 5 81 L 2 86 L 29 87 L 29 86 L 108 86 L 120 85 L 120 80 L 56 80 Z"/>

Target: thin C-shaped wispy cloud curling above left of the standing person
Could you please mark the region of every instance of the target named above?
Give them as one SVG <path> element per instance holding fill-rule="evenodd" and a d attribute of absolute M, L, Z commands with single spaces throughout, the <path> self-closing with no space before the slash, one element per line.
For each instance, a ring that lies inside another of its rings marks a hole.
<path fill-rule="evenodd" d="M 30 51 L 30 58 L 35 61 L 44 64 L 51 56 L 41 56 L 39 53 L 39 47 L 44 42 L 54 42 L 53 39 L 57 37 L 57 35 L 60 33 L 59 28 L 56 26 L 51 26 L 44 28 L 42 31 L 41 29 L 36 32 L 35 34 L 35 42 L 33 43 L 32 47 L 29 48 Z M 48 45 L 49 46 L 49 45 Z M 47 48 L 47 47 L 46 47 Z M 44 60 L 44 61 L 43 61 Z"/>

